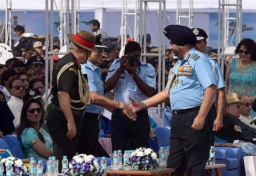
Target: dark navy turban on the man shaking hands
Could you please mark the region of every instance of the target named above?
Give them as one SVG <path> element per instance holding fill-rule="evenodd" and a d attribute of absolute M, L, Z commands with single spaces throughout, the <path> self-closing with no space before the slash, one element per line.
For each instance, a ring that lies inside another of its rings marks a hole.
<path fill-rule="evenodd" d="M 181 25 L 169 25 L 164 28 L 164 35 L 170 39 L 170 41 L 178 46 L 184 46 L 187 44 L 196 44 L 196 35 L 193 30 L 186 26 Z"/>

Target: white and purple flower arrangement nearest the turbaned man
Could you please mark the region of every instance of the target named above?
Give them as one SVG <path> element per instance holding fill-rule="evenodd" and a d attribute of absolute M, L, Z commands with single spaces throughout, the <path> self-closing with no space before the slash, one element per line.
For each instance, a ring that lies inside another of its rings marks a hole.
<path fill-rule="evenodd" d="M 155 169 L 159 166 L 156 158 L 157 155 L 152 149 L 140 147 L 131 154 L 131 158 L 126 164 L 135 170 Z"/>

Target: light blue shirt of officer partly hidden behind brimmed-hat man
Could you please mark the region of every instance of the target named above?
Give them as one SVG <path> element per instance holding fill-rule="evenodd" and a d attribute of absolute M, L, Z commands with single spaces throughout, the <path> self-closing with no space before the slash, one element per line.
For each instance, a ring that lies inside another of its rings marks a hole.
<path fill-rule="evenodd" d="M 90 92 L 98 92 L 99 95 L 103 95 L 104 84 L 101 79 L 101 68 L 93 65 L 87 60 L 87 63 L 81 66 L 82 73 L 87 75 Z M 101 106 L 94 105 L 92 102 L 85 109 L 87 113 L 100 114 L 102 110 Z"/>

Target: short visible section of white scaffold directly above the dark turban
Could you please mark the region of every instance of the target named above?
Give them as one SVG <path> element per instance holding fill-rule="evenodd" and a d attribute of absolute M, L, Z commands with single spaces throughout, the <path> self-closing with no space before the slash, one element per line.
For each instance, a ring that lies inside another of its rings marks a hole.
<path fill-rule="evenodd" d="M 176 22 L 177 25 L 181 25 L 182 18 L 188 18 L 188 27 L 193 28 L 193 17 L 194 17 L 194 0 L 189 0 L 189 7 L 188 7 L 188 15 L 183 15 L 182 13 L 182 0 L 177 0 L 177 10 L 176 10 Z"/>

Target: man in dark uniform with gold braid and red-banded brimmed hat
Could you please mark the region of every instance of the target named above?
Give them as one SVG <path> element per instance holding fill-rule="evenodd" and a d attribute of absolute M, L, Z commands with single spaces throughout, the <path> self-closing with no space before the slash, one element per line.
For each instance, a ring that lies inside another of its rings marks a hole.
<path fill-rule="evenodd" d="M 53 141 L 53 155 L 59 161 L 63 155 L 72 159 L 83 125 L 84 110 L 90 104 L 89 85 L 81 72 L 91 52 L 98 52 L 95 36 L 87 31 L 68 34 L 69 50 L 55 65 L 52 73 L 52 109 L 47 116 L 47 128 Z M 59 162 L 59 171 L 61 171 Z"/>

